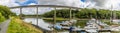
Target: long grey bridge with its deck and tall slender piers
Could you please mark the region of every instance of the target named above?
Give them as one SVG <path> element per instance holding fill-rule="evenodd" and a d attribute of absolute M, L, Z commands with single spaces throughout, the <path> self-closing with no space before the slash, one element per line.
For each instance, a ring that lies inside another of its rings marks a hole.
<path fill-rule="evenodd" d="M 72 6 L 61 6 L 61 5 L 29 5 L 29 6 L 15 6 L 15 7 L 9 7 L 10 9 L 16 9 L 18 8 L 20 10 L 20 17 L 22 18 L 22 9 L 23 8 L 27 8 L 27 7 L 35 7 L 36 8 L 36 18 L 37 18 L 37 25 L 38 25 L 38 10 L 39 10 L 39 7 L 51 7 L 51 8 L 54 8 L 54 23 L 56 23 L 56 8 L 68 8 L 69 11 L 70 11 L 70 20 L 72 18 L 72 15 L 71 15 L 71 10 L 72 9 L 81 9 L 79 7 L 72 7 Z"/>

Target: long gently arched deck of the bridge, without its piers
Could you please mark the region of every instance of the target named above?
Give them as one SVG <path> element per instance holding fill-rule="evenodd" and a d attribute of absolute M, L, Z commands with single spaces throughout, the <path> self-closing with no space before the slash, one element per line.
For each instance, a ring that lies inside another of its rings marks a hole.
<path fill-rule="evenodd" d="M 60 6 L 60 5 L 29 5 L 29 6 L 16 6 L 16 7 L 9 7 L 10 9 L 15 8 L 26 8 L 26 7 L 53 7 L 53 8 L 73 8 L 73 9 L 81 9 L 78 7 L 72 7 L 72 6 Z"/>

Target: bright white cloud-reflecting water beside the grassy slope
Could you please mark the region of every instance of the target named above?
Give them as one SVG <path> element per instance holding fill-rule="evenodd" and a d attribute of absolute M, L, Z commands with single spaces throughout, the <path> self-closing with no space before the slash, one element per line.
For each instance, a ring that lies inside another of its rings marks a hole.
<path fill-rule="evenodd" d="M 24 21 L 27 23 L 32 23 L 34 25 L 37 25 L 36 18 L 25 18 Z M 51 30 L 50 28 L 48 28 L 48 26 L 50 26 L 50 24 L 46 23 L 43 19 L 38 19 L 38 26 L 43 29 L 46 29 L 46 30 Z"/>

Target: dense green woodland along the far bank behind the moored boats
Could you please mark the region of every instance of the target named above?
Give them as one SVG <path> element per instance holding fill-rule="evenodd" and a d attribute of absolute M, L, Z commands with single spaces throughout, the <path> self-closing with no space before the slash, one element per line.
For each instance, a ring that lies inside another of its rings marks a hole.
<path fill-rule="evenodd" d="M 51 12 L 47 12 L 43 14 L 42 16 L 44 17 L 53 17 L 54 16 L 54 11 L 52 10 Z M 69 9 L 58 9 L 56 10 L 57 17 L 62 17 L 62 18 L 69 18 L 70 11 Z M 120 11 L 113 10 L 112 14 L 116 14 L 116 18 L 120 19 Z M 105 10 L 105 9 L 79 9 L 79 10 L 72 10 L 72 17 L 76 18 L 98 18 L 98 19 L 109 19 L 110 17 L 113 17 L 111 15 L 111 10 Z"/>

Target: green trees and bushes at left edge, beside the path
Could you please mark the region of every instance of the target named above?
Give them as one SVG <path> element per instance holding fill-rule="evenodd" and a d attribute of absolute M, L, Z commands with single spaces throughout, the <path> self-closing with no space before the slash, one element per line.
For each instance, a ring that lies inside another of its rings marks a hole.
<path fill-rule="evenodd" d="M 5 19 L 9 19 L 10 16 L 15 16 L 15 13 L 12 13 L 7 6 L 0 5 L 0 22 L 3 22 Z"/>

